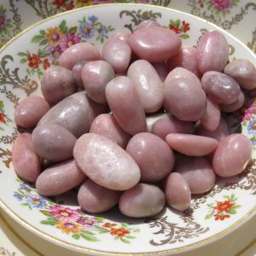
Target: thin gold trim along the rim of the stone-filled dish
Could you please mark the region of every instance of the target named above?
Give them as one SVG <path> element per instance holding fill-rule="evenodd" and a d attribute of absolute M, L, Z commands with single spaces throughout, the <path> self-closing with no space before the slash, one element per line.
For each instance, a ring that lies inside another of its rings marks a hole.
<path fill-rule="evenodd" d="M 228 34 L 230 38 L 232 38 L 233 40 L 235 40 L 236 42 L 241 44 L 244 48 L 247 49 L 248 52 L 250 52 L 252 55 L 254 55 L 253 51 L 251 49 L 249 49 L 247 47 L 247 45 L 241 43 L 241 41 L 239 39 L 235 38 L 233 35 L 229 34 L 228 32 L 225 32 L 224 29 L 222 29 L 219 26 L 216 26 L 212 22 L 209 22 L 207 20 L 196 17 L 195 15 L 190 15 L 188 13 L 178 11 L 176 9 L 170 9 L 170 8 L 166 8 L 166 7 L 162 7 L 162 6 L 157 6 L 157 5 L 152 5 L 152 4 L 141 4 L 141 3 L 97 4 L 97 5 L 85 6 L 85 7 L 79 8 L 79 9 L 69 10 L 67 12 L 64 12 L 64 13 L 61 13 L 61 14 L 58 14 L 58 15 L 53 15 L 53 16 L 47 18 L 47 19 L 40 20 L 40 21 L 34 23 L 32 26 L 27 27 L 24 31 L 17 34 L 7 44 L 3 45 L 3 47 L 0 49 L 0 53 L 3 52 L 3 50 L 6 49 L 9 46 L 9 44 L 13 43 L 17 38 L 20 38 L 21 35 L 23 35 L 27 31 L 32 30 L 32 28 L 44 23 L 45 21 L 55 19 L 56 17 L 65 16 L 65 15 L 68 15 L 68 14 L 73 13 L 73 12 L 78 12 L 81 9 L 96 9 L 96 8 L 102 8 L 102 7 L 106 7 L 106 6 L 139 6 L 139 7 L 142 7 L 142 8 L 148 7 L 148 8 L 154 8 L 154 9 L 172 10 L 173 12 L 192 17 L 195 20 L 201 20 L 201 21 L 207 22 L 208 24 L 211 24 L 211 26 L 216 27 L 218 30 L 220 30 L 224 34 Z M 206 245 L 206 244 L 208 244 L 212 241 L 216 241 L 217 239 L 223 237 L 224 235 L 227 235 L 228 233 L 230 233 L 231 230 L 237 229 L 242 223 L 244 223 L 245 221 L 248 221 L 250 218 L 253 218 L 253 215 L 256 212 L 256 206 L 255 206 L 245 216 L 243 216 L 238 221 L 236 221 L 235 224 L 230 225 L 229 228 L 227 228 L 225 230 L 222 230 L 221 232 L 218 232 L 217 234 L 215 234 L 213 236 L 210 236 L 206 239 L 203 239 L 201 241 L 190 244 L 188 246 L 183 246 L 183 247 L 178 247 L 178 248 L 173 248 L 173 249 L 163 250 L 163 251 L 158 251 L 158 252 L 153 251 L 153 252 L 148 252 L 148 253 L 115 253 L 115 252 L 107 252 L 107 251 L 104 252 L 104 251 L 100 251 L 100 250 L 96 250 L 96 249 L 90 249 L 90 248 L 87 248 L 87 247 L 81 247 L 81 246 L 73 245 L 73 244 L 71 244 L 67 241 L 62 241 L 61 239 L 57 239 L 57 238 L 55 238 L 55 236 L 51 236 L 49 234 L 46 234 L 46 233 L 44 233 L 44 231 L 39 230 L 38 228 L 36 228 L 36 227 L 32 226 L 31 224 L 27 223 L 25 219 L 20 218 L 20 216 L 17 215 L 11 208 L 9 208 L 1 199 L 0 199 L 0 207 L 2 207 L 3 210 L 5 212 L 7 212 L 10 217 L 14 218 L 19 224 L 24 226 L 27 230 L 30 230 L 33 233 L 37 234 L 38 236 L 43 237 L 47 241 L 55 242 L 55 244 L 61 245 L 62 247 L 67 247 L 69 249 L 72 248 L 73 250 L 75 250 L 77 252 L 80 252 L 80 253 L 83 252 L 83 253 L 95 253 L 96 255 L 99 255 L 99 254 L 102 254 L 102 255 L 105 254 L 106 255 L 107 254 L 107 255 L 125 255 L 125 256 L 129 256 L 129 255 L 131 255 L 131 256 L 134 256 L 134 255 L 159 255 L 159 254 L 164 254 L 164 253 L 182 253 L 182 252 L 185 252 L 185 251 L 189 251 L 189 249 L 195 249 L 195 248 L 198 248 L 198 247 L 202 247 L 202 246 L 204 246 L 204 245 Z"/>

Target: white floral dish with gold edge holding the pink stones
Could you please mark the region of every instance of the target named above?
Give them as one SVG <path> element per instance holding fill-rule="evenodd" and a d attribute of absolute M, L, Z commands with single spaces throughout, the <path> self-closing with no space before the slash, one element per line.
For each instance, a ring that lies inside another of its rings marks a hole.
<path fill-rule="evenodd" d="M 79 42 L 99 48 L 114 32 L 132 31 L 142 20 L 158 20 L 177 32 L 183 44 L 195 45 L 202 33 L 218 29 L 192 15 L 145 4 L 109 4 L 73 10 L 30 27 L 0 50 L 0 206 L 38 236 L 79 252 L 177 253 L 214 241 L 236 229 L 255 211 L 256 107 L 249 96 L 230 125 L 253 144 L 253 161 L 239 177 L 218 180 L 207 195 L 195 197 L 189 210 L 167 208 L 155 218 L 123 217 L 117 209 L 90 215 L 81 212 L 75 191 L 44 198 L 30 183 L 16 177 L 11 146 L 19 134 L 14 110 L 26 96 L 39 95 L 39 79 L 45 69 L 58 64 L 64 49 Z M 222 31 L 230 44 L 230 60 L 247 58 L 256 65 L 253 52 Z"/>

